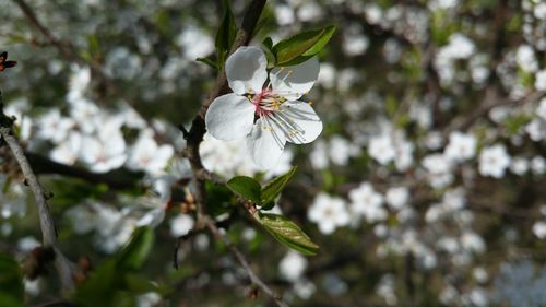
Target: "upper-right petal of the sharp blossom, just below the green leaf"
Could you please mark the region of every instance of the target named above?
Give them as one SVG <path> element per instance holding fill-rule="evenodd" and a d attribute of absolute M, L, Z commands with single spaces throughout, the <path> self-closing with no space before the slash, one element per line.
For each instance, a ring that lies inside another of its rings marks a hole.
<path fill-rule="evenodd" d="M 296 101 L 311 91 L 319 78 L 319 70 L 316 57 L 297 66 L 274 68 L 270 73 L 272 90 L 288 101 Z"/>

